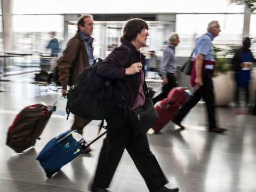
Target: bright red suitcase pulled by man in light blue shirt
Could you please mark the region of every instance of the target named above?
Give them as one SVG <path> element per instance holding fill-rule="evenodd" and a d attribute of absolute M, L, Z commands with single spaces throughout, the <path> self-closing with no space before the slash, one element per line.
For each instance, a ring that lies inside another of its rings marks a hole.
<path fill-rule="evenodd" d="M 189 94 L 183 87 L 173 88 L 167 98 L 163 99 L 160 105 L 155 107 L 159 118 L 156 124 L 151 127 L 155 132 L 159 132 L 163 127 L 179 113 L 182 105 L 187 101 Z"/>

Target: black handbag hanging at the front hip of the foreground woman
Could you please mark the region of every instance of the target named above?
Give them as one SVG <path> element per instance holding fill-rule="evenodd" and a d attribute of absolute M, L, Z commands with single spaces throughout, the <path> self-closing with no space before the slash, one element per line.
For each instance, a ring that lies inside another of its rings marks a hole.
<path fill-rule="evenodd" d="M 135 134 L 146 134 L 158 119 L 158 114 L 150 96 L 145 98 L 143 106 L 129 109 L 130 123 L 135 128 Z"/>

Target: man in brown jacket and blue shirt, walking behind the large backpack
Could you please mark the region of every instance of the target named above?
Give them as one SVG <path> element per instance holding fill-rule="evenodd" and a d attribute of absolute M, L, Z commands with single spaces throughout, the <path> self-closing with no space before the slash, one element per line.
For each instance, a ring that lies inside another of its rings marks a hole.
<path fill-rule="evenodd" d="M 78 75 L 94 62 L 93 57 L 93 16 L 90 14 L 81 14 L 77 19 L 77 33 L 69 40 L 66 49 L 62 52 L 62 57 L 58 60 L 59 82 L 62 86 L 61 93 L 67 94 L 67 86 L 74 85 Z M 83 134 L 83 128 L 91 120 L 86 120 L 75 115 L 72 130 L 77 130 Z M 90 152 L 87 149 L 87 153 Z"/>

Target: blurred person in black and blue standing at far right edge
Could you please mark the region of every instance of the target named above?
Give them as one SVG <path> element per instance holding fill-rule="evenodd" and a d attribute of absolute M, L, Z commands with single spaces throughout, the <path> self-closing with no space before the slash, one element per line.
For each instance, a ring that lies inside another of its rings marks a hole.
<path fill-rule="evenodd" d="M 248 107 L 250 94 L 249 84 L 251 80 L 252 63 L 255 62 L 253 54 L 250 50 L 251 39 L 244 37 L 243 46 L 235 52 L 232 60 L 232 68 L 235 72 L 236 91 L 235 91 L 235 103 L 236 107 L 240 106 L 239 102 L 239 90 L 243 88 L 245 90 L 245 107 Z M 247 109 L 246 109 L 247 110 Z M 239 111 L 237 111 L 239 113 Z"/>

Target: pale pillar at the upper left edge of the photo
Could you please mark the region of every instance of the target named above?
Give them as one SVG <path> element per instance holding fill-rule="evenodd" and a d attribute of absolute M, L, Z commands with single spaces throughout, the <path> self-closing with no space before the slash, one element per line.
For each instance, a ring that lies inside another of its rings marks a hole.
<path fill-rule="evenodd" d="M 13 19 L 12 19 L 12 0 L 1 0 L 3 12 L 3 40 L 4 51 L 13 50 Z"/>

